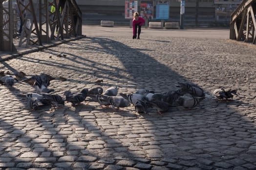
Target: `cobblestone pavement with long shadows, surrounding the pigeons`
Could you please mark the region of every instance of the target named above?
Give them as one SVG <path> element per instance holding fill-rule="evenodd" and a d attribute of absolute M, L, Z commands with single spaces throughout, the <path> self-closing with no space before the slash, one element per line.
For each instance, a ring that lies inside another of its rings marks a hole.
<path fill-rule="evenodd" d="M 163 116 L 114 112 L 95 102 L 28 111 L 22 82 L 0 86 L 0 167 L 6 170 L 255 170 L 256 46 L 227 39 L 97 36 L 2 62 L 1 70 L 63 76 L 54 94 L 80 91 L 98 78 L 104 90 L 177 89 L 198 84 L 206 99 L 173 105 Z M 57 54 L 66 56 L 58 57 Z M 51 57 L 50 57 L 51 56 Z M 212 92 L 237 88 L 233 101 Z"/>

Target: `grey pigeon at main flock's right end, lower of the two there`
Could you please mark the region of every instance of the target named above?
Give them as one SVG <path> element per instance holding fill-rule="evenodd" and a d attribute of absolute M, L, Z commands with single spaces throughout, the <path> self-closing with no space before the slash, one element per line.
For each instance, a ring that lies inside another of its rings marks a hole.
<path fill-rule="evenodd" d="M 178 99 L 179 105 L 185 107 L 185 108 L 193 108 L 195 107 L 199 102 L 201 102 L 205 97 L 180 97 Z"/>

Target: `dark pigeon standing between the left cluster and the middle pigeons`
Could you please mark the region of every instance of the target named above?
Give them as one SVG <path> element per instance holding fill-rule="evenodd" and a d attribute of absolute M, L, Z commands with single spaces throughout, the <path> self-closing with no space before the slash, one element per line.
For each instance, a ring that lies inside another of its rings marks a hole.
<path fill-rule="evenodd" d="M 71 102 L 72 105 L 79 104 L 79 103 L 85 101 L 85 98 L 87 97 L 87 93 L 88 93 L 87 88 L 83 89 L 80 93 L 65 91 L 64 92 L 64 95 L 66 97 L 65 101 Z"/>

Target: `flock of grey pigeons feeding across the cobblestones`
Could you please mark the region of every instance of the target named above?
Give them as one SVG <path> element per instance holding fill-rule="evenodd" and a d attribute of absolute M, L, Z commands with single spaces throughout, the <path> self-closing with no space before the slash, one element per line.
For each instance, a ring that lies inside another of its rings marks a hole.
<path fill-rule="evenodd" d="M 10 74 L 10 72 L 7 72 L 7 74 Z M 55 108 L 64 105 L 65 102 L 71 102 L 72 106 L 75 106 L 86 101 L 98 102 L 101 107 L 110 106 L 115 111 L 132 104 L 137 113 L 148 113 L 149 109 L 153 108 L 162 115 L 162 113 L 169 110 L 174 102 L 185 108 L 193 108 L 205 99 L 205 93 L 202 88 L 188 83 L 178 83 L 177 87 L 180 87 L 178 90 L 155 93 L 148 89 L 138 89 L 135 93 L 119 93 L 120 97 L 117 96 L 118 88 L 116 86 L 109 87 L 103 93 L 103 88 L 100 85 L 96 85 L 90 89 L 85 88 L 81 92 L 65 91 L 65 99 L 63 99 L 60 95 L 51 94 L 54 92 L 54 89 L 48 88 L 51 80 L 66 81 L 63 77 L 54 78 L 41 73 L 40 75 L 26 78 L 26 74 L 22 71 L 14 75 L 16 78 L 13 78 L 11 75 L 7 76 L 4 71 L 0 71 L 0 84 L 12 86 L 15 82 L 21 81 L 34 86 L 35 93 L 27 93 L 23 96 L 27 100 L 27 108 L 29 110 L 35 110 L 42 105 L 51 105 Z M 100 84 L 101 82 L 102 80 L 99 80 L 96 83 Z M 213 94 L 219 100 L 233 99 L 233 94 L 237 95 L 236 89 L 232 90 L 231 88 L 216 89 Z"/>

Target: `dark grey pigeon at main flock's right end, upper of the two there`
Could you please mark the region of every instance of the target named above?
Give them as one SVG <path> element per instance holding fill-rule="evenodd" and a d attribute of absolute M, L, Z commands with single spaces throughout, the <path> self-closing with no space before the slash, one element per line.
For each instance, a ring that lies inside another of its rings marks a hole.
<path fill-rule="evenodd" d="M 204 97 L 204 90 L 198 85 L 189 83 L 178 83 L 177 87 L 181 87 L 182 90 L 187 91 L 189 94 L 195 97 Z"/>

